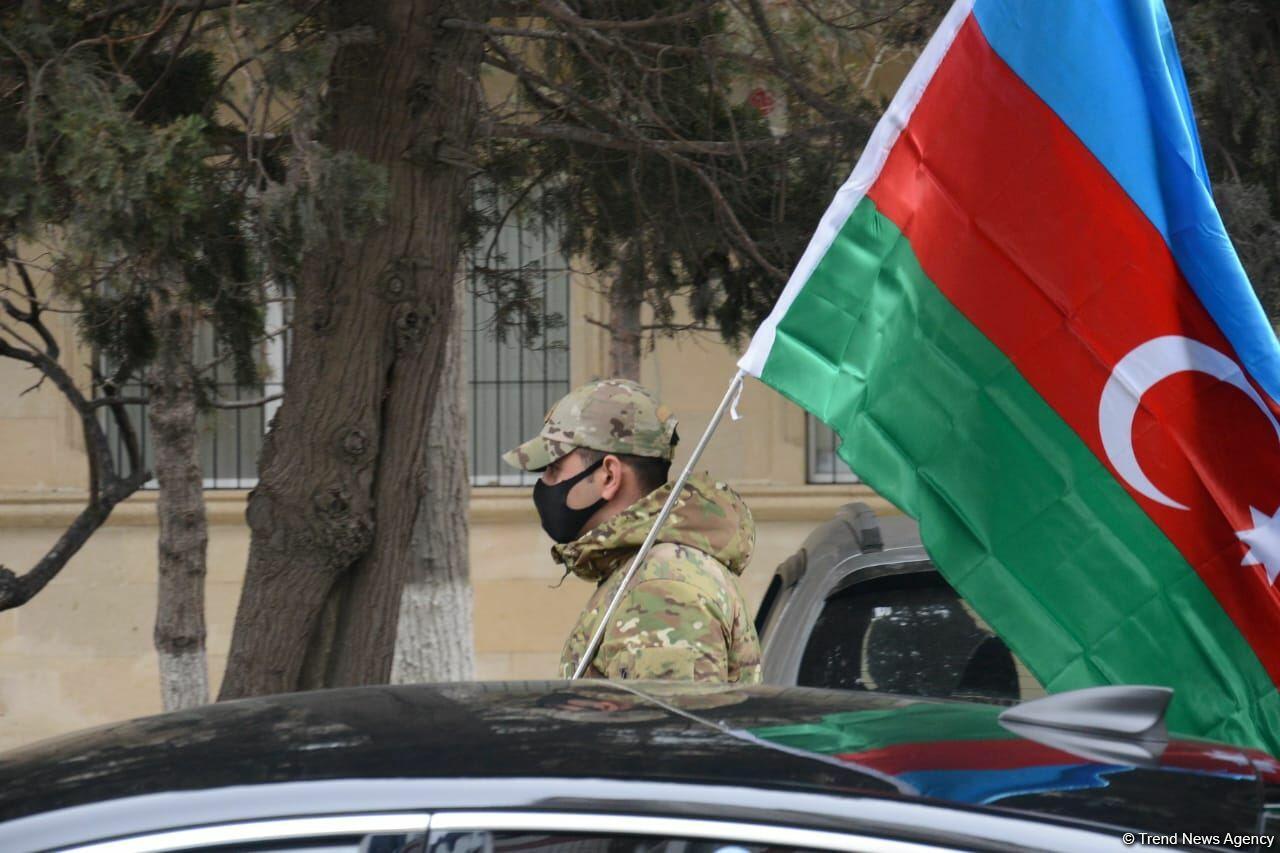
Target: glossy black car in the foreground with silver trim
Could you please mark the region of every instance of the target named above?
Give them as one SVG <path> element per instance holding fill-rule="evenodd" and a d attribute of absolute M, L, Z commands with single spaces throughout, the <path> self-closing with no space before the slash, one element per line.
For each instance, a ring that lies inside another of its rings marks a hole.
<path fill-rule="evenodd" d="M 1167 694 L 1126 690 L 1012 710 L 609 681 L 228 702 L 0 757 L 0 850 L 1106 850 L 1258 833 L 1270 760 L 1169 739 Z"/>

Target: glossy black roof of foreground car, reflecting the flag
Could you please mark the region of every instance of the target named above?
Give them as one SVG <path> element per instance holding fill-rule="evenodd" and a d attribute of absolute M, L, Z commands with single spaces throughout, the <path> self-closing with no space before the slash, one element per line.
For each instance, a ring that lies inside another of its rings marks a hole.
<path fill-rule="evenodd" d="M 1005 731 L 997 711 L 874 693 L 653 683 L 320 690 L 9 752 L 0 756 L 0 821 L 233 785 L 577 777 L 932 799 L 1157 831 L 1257 826 L 1257 774 L 1242 751 L 1175 742 L 1156 767 L 1103 765 Z"/>

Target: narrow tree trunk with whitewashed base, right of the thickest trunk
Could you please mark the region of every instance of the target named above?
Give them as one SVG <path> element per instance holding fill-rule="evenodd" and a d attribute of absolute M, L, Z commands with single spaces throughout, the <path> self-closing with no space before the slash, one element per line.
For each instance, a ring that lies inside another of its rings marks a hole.
<path fill-rule="evenodd" d="M 475 678 L 467 570 L 467 411 L 462 310 L 454 306 L 440 393 L 428 429 L 425 493 L 413 521 L 392 681 Z"/>

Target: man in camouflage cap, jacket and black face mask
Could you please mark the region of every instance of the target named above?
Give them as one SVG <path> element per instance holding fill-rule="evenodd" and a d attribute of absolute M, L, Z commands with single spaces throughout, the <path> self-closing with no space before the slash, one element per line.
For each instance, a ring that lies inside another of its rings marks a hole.
<path fill-rule="evenodd" d="M 639 384 L 566 394 L 541 432 L 503 459 L 541 471 L 534 503 L 556 562 L 596 584 L 561 657 L 568 678 L 671 493 L 676 419 Z M 755 544 L 751 514 L 724 483 L 692 475 L 618 603 L 590 678 L 754 684 L 760 642 L 736 575 Z"/>

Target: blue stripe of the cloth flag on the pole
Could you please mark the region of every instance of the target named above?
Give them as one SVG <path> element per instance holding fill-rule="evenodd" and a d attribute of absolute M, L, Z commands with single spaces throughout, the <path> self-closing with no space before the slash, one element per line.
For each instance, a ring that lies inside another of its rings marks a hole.
<path fill-rule="evenodd" d="M 1213 206 L 1161 0 L 977 0 L 974 15 L 1164 234 L 1245 370 L 1280 401 L 1280 345 Z"/>

